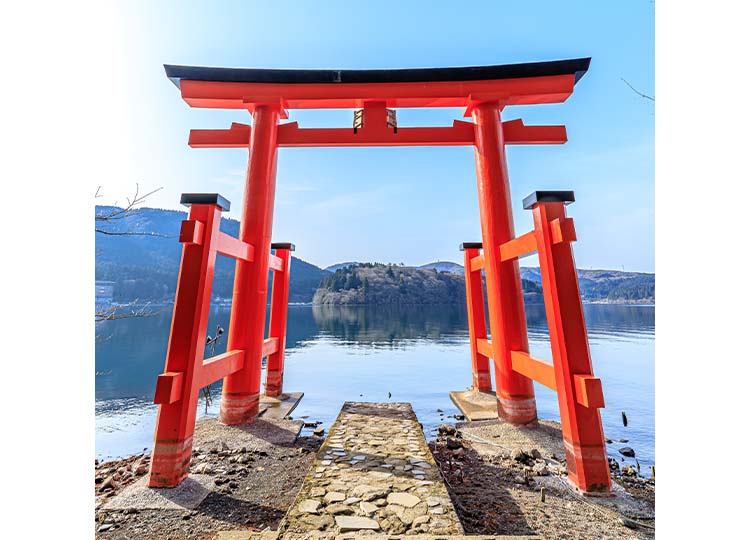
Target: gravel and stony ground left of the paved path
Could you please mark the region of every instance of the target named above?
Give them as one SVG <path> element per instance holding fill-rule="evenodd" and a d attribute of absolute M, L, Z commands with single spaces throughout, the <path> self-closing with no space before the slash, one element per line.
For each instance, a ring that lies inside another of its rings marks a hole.
<path fill-rule="evenodd" d="M 191 472 L 211 475 L 214 485 L 195 510 L 106 510 L 107 500 L 146 471 L 122 480 L 123 471 L 119 481 L 113 480 L 113 487 L 102 492 L 104 482 L 118 469 L 148 461 L 141 455 L 98 464 L 96 477 L 102 479 L 95 485 L 96 538 L 208 540 L 224 530 L 276 529 L 294 501 L 322 439 L 299 437 L 279 443 L 278 437 L 268 436 L 269 432 L 281 433 L 278 430 L 263 429 L 254 436 L 248 429 L 239 437 L 243 446 L 238 447 L 236 433 L 231 439 L 221 440 L 222 428 L 214 422 L 202 427 L 199 424 L 196 429 L 196 440 L 201 440 L 193 452 Z"/>

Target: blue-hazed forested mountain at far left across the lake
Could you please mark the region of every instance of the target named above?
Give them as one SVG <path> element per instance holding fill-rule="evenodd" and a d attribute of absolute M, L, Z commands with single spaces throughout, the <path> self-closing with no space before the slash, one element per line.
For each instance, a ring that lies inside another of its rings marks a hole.
<path fill-rule="evenodd" d="M 97 215 L 108 214 L 111 210 L 112 207 L 96 207 Z M 174 299 L 182 254 L 178 237 L 184 219 L 187 219 L 185 212 L 139 208 L 123 219 L 96 222 L 97 229 L 104 231 L 96 233 L 96 279 L 115 282 L 115 301 Z M 237 236 L 239 222 L 222 219 L 220 229 Z M 289 301 L 310 302 L 320 280 L 328 274 L 313 264 L 292 257 Z M 213 296 L 231 298 L 233 284 L 234 260 L 217 257 Z"/>

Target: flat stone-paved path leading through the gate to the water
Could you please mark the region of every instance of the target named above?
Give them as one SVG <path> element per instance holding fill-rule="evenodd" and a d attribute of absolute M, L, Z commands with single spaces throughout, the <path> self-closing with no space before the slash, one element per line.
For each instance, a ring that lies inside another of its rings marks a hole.
<path fill-rule="evenodd" d="M 408 403 L 347 402 L 279 531 L 463 535 L 463 527 Z"/>

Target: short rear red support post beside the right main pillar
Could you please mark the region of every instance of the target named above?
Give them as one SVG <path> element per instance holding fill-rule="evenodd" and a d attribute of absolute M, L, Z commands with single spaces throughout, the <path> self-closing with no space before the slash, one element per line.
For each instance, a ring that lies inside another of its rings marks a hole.
<path fill-rule="evenodd" d="M 469 343 L 471 346 L 472 389 L 480 392 L 492 391 L 489 358 L 477 348 L 477 339 L 487 339 L 487 322 L 484 314 L 484 291 L 482 290 L 482 269 L 471 269 L 471 260 L 479 256 L 481 244 L 465 243 L 464 275 L 466 281 L 466 308 L 469 318 Z"/>

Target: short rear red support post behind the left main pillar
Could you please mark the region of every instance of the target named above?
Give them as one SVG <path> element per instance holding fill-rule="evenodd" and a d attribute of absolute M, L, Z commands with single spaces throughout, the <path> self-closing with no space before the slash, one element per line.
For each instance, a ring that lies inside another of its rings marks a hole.
<path fill-rule="evenodd" d="M 278 397 L 284 386 L 284 348 L 286 347 L 286 320 L 289 311 L 289 278 L 292 266 L 292 244 L 273 244 L 280 246 L 276 256 L 281 259 L 282 269 L 273 275 L 271 289 L 271 320 L 268 336 L 278 338 L 279 346 L 275 353 L 268 356 L 266 362 L 266 395 Z M 283 246 L 283 247 L 281 247 Z"/>

